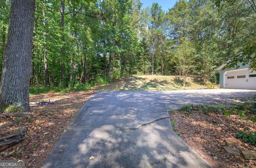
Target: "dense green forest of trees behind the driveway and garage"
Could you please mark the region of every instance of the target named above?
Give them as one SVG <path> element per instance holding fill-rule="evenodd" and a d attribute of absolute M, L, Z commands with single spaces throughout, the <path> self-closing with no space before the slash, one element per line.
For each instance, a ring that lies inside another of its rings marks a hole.
<path fill-rule="evenodd" d="M 178 0 L 163 11 L 157 3 L 142 9 L 140 0 L 36 0 L 30 86 L 72 88 L 132 74 L 217 81 L 214 68 L 256 48 L 254 0 L 218 2 Z M 0 72 L 10 4 L 0 1 Z"/>

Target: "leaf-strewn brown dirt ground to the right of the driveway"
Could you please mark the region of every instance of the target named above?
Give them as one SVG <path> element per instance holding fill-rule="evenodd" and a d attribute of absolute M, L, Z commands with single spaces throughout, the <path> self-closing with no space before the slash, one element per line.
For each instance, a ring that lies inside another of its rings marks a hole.
<path fill-rule="evenodd" d="M 225 115 L 199 112 L 170 113 L 174 131 L 202 158 L 214 168 L 254 168 L 256 160 L 246 160 L 242 155 L 231 156 L 223 147 L 224 139 L 234 137 L 239 131 L 256 131 L 255 124 L 250 120 L 240 119 L 238 115 Z M 174 127 L 174 126 L 173 126 Z M 239 147 L 242 150 L 254 150 L 256 147 L 250 143 L 244 143 Z M 248 166 L 248 167 L 247 167 Z"/>

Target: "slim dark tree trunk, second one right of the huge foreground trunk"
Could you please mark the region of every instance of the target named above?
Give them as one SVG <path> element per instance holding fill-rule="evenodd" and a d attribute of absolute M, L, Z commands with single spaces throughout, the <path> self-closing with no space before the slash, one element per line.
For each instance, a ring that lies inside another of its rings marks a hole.
<path fill-rule="evenodd" d="M 67 81 L 65 79 L 65 47 L 64 47 L 64 43 L 65 43 L 65 36 L 64 36 L 64 15 L 65 15 L 65 0 L 62 0 L 61 3 L 61 10 L 60 10 L 60 14 L 61 14 L 61 21 L 60 21 L 60 27 L 61 27 L 61 31 L 62 31 L 62 47 L 61 47 L 61 57 L 62 57 L 62 63 L 60 65 L 61 68 L 61 82 L 62 82 L 62 88 L 66 88 L 67 86 Z"/>

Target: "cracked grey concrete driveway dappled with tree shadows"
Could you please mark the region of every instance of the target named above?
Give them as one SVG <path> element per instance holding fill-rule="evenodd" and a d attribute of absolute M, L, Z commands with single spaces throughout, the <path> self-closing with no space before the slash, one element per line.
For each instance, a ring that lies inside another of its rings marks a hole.
<path fill-rule="evenodd" d="M 168 111 L 185 104 L 232 105 L 254 94 L 230 89 L 94 92 L 43 168 L 211 167 L 172 131 Z"/>

